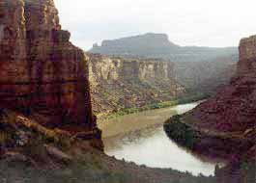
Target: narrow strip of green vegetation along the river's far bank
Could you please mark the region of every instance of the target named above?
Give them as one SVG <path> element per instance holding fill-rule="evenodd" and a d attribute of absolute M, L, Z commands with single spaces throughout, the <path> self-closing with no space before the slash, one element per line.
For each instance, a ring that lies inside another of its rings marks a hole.
<path fill-rule="evenodd" d="M 184 97 L 180 97 L 171 101 L 163 101 L 158 103 L 152 103 L 145 106 L 142 106 L 140 108 L 126 108 L 121 109 L 114 113 L 100 113 L 97 114 L 97 117 L 100 119 L 109 119 L 109 118 L 117 118 L 122 117 L 129 114 L 135 114 L 140 113 L 144 111 L 150 111 L 150 110 L 156 110 L 156 109 L 162 109 L 162 108 L 168 108 L 168 107 L 175 107 L 177 105 L 182 105 L 186 103 L 192 103 L 200 100 L 205 100 L 208 97 L 210 97 L 207 94 L 202 93 L 195 93 L 195 94 L 187 94 Z"/>

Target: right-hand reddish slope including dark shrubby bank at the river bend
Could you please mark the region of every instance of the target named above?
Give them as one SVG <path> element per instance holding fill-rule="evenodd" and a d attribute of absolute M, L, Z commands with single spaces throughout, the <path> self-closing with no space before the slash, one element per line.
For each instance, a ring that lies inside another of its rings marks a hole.
<path fill-rule="evenodd" d="M 165 123 L 170 138 L 201 153 L 224 156 L 232 164 L 242 159 L 255 161 L 255 38 L 241 40 L 238 71 L 228 86 L 184 116 Z M 177 127 L 185 130 L 176 133 Z M 187 135 L 192 145 L 186 145 Z"/>

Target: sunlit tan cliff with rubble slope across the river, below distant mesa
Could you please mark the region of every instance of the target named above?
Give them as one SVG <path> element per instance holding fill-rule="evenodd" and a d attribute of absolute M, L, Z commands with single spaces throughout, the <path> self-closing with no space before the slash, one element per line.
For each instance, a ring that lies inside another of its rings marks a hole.
<path fill-rule="evenodd" d="M 89 54 L 90 83 L 96 113 L 172 100 L 185 93 L 174 65 L 158 60 L 128 60 Z"/>

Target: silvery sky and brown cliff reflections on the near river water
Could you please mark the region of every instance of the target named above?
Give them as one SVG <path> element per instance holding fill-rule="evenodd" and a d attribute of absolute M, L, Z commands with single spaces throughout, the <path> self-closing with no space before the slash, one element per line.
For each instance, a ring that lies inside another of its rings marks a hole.
<path fill-rule="evenodd" d="M 168 139 L 159 125 L 103 141 L 108 155 L 152 168 L 172 168 L 196 175 L 200 172 L 211 175 L 216 164 L 223 165 L 221 160 L 195 155 L 178 146 Z"/>

